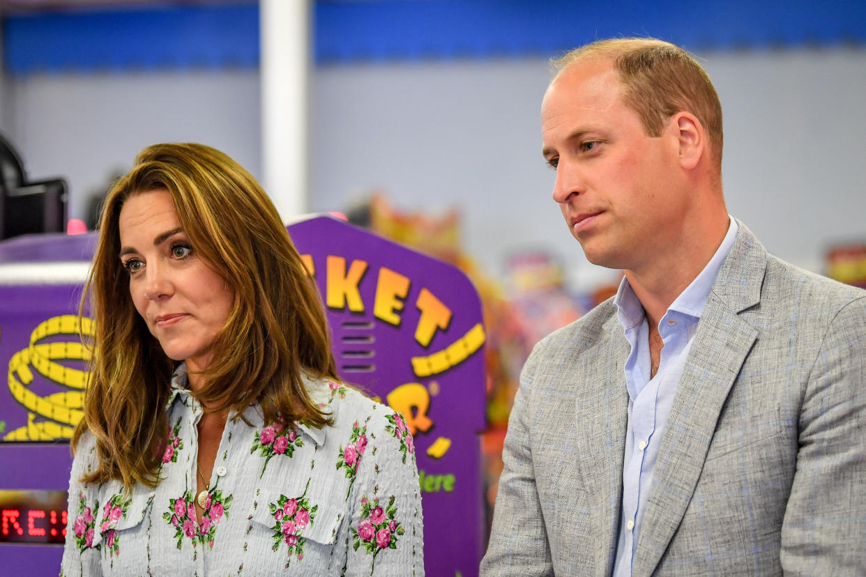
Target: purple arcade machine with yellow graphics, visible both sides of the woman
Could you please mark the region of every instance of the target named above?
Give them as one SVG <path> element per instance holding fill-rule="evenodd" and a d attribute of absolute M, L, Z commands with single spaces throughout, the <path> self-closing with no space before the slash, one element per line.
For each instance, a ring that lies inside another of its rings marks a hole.
<path fill-rule="evenodd" d="M 485 333 L 475 288 L 454 266 L 331 217 L 288 230 L 325 301 L 339 375 L 404 414 L 415 435 L 427 574 L 477 574 Z M 3 574 L 60 567 L 68 439 L 87 381 L 77 309 L 94 244 L 94 234 L 0 242 Z"/>

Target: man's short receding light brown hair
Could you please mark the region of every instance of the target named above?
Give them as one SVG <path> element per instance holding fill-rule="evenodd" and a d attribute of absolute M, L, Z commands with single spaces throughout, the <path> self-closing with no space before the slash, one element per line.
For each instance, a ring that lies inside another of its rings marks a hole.
<path fill-rule="evenodd" d="M 691 112 L 707 131 L 716 169 L 721 172 L 721 103 L 707 71 L 682 48 L 655 38 L 611 38 L 575 48 L 553 61 L 561 73 L 582 60 L 613 61 L 625 103 L 643 121 L 650 137 L 662 135 L 676 112 Z"/>

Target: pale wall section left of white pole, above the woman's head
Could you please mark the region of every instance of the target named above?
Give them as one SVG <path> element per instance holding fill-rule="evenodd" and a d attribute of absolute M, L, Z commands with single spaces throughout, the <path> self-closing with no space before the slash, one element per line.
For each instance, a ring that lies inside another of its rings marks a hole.
<path fill-rule="evenodd" d="M 148 144 L 210 144 L 259 176 L 258 79 L 255 71 L 7 77 L 3 131 L 31 179 L 67 179 L 69 216 L 84 218 L 88 197 Z"/>

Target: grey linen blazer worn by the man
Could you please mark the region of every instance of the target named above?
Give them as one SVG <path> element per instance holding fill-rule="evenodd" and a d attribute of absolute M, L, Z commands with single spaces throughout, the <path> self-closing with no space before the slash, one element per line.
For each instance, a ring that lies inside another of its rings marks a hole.
<path fill-rule="evenodd" d="M 662 433 L 633 574 L 866 574 L 866 292 L 739 226 Z M 533 349 L 482 575 L 611 574 L 629 353 L 612 300 Z"/>

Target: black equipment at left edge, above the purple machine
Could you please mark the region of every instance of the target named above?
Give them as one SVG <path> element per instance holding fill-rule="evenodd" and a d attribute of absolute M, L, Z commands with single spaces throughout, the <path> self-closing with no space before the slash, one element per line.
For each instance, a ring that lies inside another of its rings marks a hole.
<path fill-rule="evenodd" d="M 0 240 L 19 234 L 62 233 L 66 200 L 65 180 L 28 182 L 21 157 L 0 136 Z"/>

